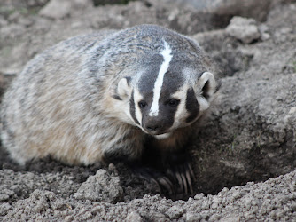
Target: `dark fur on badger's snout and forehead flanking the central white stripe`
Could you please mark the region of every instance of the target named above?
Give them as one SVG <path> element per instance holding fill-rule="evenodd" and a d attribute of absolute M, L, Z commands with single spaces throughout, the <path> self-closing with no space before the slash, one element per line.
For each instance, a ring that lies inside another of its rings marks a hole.
<path fill-rule="evenodd" d="M 154 57 L 157 59 L 157 57 Z M 153 89 L 157 75 L 160 72 L 160 65 L 163 62 L 162 56 L 158 60 L 157 65 L 151 64 L 147 67 L 147 70 L 152 71 L 149 74 L 144 73 L 141 78 L 140 93 L 144 97 L 144 101 L 147 106 L 142 106 L 139 104 L 142 112 L 142 127 L 145 131 L 152 135 L 159 135 L 167 132 L 175 122 L 175 113 L 177 111 L 178 105 L 180 103 L 179 99 L 174 99 L 172 95 L 183 86 L 184 76 L 183 76 L 183 61 L 175 60 L 174 57 L 170 61 L 167 72 L 164 75 L 163 83 L 160 89 L 160 99 L 159 99 L 159 113 L 157 116 L 150 115 L 150 108 L 152 106 Z M 155 68 L 157 67 L 157 68 Z M 155 75 L 156 74 L 156 75 Z M 146 84 L 144 86 L 144 84 Z"/>

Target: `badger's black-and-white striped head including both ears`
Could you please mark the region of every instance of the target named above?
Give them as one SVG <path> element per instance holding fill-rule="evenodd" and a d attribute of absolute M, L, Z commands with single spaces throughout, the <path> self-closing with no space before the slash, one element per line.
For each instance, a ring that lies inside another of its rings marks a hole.
<path fill-rule="evenodd" d="M 141 59 L 137 74 L 122 78 L 117 87 L 118 96 L 129 103 L 130 123 L 156 138 L 197 121 L 219 88 L 200 58 L 173 52 L 166 41 L 161 48 Z"/>

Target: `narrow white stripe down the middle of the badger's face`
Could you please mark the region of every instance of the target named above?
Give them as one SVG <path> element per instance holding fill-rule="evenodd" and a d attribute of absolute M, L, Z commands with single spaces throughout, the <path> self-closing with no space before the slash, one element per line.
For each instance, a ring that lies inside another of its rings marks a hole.
<path fill-rule="evenodd" d="M 150 108 L 150 116 L 157 116 L 159 115 L 159 100 L 160 100 L 160 91 L 163 83 L 163 77 L 167 73 L 167 69 L 169 66 L 169 62 L 172 59 L 172 50 L 167 44 L 166 41 L 164 42 L 164 50 L 161 52 L 161 55 L 163 56 L 163 62 L 160 66 L 160 72 L 159 75 L 157 76 L 157 79 L 154 83 L 154 89 L 153 89 L 153 101 L 152 101 L 152 106 Z"/>

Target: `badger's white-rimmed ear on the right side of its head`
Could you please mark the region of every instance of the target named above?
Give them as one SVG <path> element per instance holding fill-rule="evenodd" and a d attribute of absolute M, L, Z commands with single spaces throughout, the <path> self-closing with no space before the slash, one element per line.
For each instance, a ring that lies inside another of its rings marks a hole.
<path fill-rule="evenodd" d="M 218 84 L 212 73 L 204 72 L 199 75 L 196 91 L 201 111 L 206 110 L 210 106 L 210 103 L 213 101 L 214 94 L 218 88 Z"/>

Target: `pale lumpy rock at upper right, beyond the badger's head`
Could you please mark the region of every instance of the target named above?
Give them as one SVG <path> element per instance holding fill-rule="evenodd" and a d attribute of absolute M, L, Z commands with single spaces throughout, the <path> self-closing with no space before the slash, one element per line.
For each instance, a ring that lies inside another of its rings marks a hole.
<path fill-rule="evenodd" d="M 230 25 L 226 28 L 226 32 L 245 44 L 250 44 L 261 37 L 260 31 L 255 24 L 255 20 L 245 19 L 238 16 L 235 16 L 230 20 Z"/>

